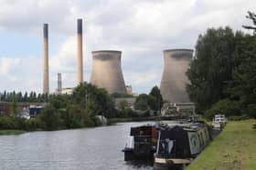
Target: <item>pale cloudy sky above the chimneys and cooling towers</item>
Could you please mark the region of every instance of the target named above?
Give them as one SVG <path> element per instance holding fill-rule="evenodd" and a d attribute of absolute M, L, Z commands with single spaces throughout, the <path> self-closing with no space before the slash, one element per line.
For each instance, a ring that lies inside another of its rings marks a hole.
<path fill-rule="evenodd" d="M 49 86 L 77 85 L 77 19 L 83 19 L 84 80 L 91 51 L 120 50 L 134 93 L 160 86 L 163 50 L 195 49 L 209 27 L 250 25 L 255 0 L 0 0 L 0 92 L 43 87 L 43 24 L 49 25 Z"/>

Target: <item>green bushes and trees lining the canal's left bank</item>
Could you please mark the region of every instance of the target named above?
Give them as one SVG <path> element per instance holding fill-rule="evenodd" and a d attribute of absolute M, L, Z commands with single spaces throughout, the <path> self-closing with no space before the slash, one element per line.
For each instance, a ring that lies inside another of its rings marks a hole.
<path fill-rule="evenodd" d="M 13 104 L 16 105 L 16 102 Z M 116 114 L 111 95 L 104 89 L 84 83 L 77 86 L 72 95 L 50 95 L 49 104 L 35 118 L 26 120 L 14 114 L 0 117 L 0 129 L 80 128 L 100 125 L 95 115 L 112 117 Z"/>

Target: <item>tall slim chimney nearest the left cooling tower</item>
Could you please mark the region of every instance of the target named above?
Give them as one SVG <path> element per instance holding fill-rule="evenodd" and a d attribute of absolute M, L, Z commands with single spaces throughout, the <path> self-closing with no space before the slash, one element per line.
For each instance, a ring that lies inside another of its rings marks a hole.
<path fill-rule="evenodd" d="M 83 83 L 82 74 L 82 19 L 78 19 L 78 85 Z"/>

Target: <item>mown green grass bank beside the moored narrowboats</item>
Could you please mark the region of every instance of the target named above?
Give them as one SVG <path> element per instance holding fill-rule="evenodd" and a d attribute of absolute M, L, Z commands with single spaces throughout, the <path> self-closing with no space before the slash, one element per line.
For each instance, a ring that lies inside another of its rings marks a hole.
<path fill-rule="evenodd" d="M 256 120 L 229 122 L 187 170 L 256 169 Z"/>

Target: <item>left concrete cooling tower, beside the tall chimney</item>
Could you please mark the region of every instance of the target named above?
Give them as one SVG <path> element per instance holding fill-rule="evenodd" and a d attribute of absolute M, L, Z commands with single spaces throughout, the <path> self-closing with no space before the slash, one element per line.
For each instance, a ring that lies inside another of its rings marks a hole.
<path fill-rule="evenodd" d="M 110 94 L 126 93 L 121 69 L 121 51 L 93 51 L 91 84 L 105 88 Z"/>

